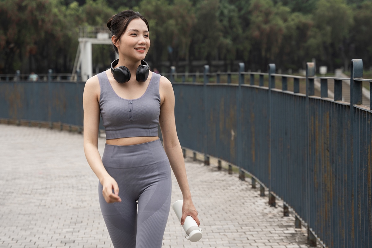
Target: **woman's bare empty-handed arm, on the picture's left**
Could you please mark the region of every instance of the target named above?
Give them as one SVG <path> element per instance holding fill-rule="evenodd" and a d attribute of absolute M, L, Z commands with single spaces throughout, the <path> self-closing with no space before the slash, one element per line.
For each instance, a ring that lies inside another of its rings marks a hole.
<path fill-rule="evenodd" d="M 103 186 L 102 194 L 106 202 L 121 202 L 118 184 L 106 171 L 98 151 L 99 95 L 98 77 L 89 78 L 85 83 L 83 93 L 84 153 L 90 168 Z M 114 193 L 112 193 L 112 190 L 114 190 Z"/>

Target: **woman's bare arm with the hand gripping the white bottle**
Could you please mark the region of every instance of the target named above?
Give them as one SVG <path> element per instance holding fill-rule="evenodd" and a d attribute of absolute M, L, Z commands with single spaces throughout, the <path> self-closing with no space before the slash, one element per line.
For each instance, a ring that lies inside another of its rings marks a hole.
<path fill-rule="evenodd" d="M 200 225 L 198 212 L 191 200 L 189 183 L 187 181 L 185 160 L 183 159 L 182 148 L 178 140 L 176 123 L 174 120 L 174 92 L 170 81 L 160 78 L 159 92 L 161 99 L 159 124 L 163 136 L 164 150 L 168 156 L 170 166 L 177 179 L 183 196 L 181 225 L 185 222 L 187 215 L 195 219 Z"/>

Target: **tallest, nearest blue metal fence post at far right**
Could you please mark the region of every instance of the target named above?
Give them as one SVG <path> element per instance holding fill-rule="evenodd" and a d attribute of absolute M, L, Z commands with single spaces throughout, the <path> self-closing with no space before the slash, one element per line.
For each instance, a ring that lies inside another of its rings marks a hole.
<path fill-rule="evenodd" d="M 352 236 L 351 246 L 350 247 L 361 247 L 360 244 L 360 233 L 358 233 L 360 223 L 360 215 L 358 212 L 360 211 L 360 191 L 358 192 L 358 174 L 360 172 L 360 165 L 358 163 L 359 159 L 359 119 L 357 116 L 358 109 L 354 107 L 354 105 L 362 104 L 362 82 L 361 81 L 354 81 L 354 78 L 361 78 L 363 77 L 363 61 L 362 59 L 352 59 L 351 61 L 351 68 L 350 68 L 350 130 L 351 130 L 351 140 L 352 145 L 350 147 L 351 150 L 351 158 L 352 158 L 352 171 L 347 171 L 347 181 L 350 182 L 350 186 L 353 189 L 351 197 L 348 196 L 348 202 L 351 200 L 353 204 L 354 211 L 350 212 L 351 216 L 347 216 L 347 226 L 352 226 L 351 229 L 349 228 L 350 234 Z M 349 174 L 350 173 L 350 174 Z M 349 177 L 350 175 L 350 177 Z M 350 178 L 350 180 L 349 180 Z M 349 207 L 349 206 L 348 206 Z M 351 207 L 351 206 L 350 206 Z M 354 232 L 354 233 L 352 233 Z"/>

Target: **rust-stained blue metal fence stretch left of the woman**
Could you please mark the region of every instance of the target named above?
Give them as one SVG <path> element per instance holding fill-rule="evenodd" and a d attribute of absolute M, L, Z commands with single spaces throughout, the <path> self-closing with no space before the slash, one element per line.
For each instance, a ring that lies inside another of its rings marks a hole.
<path fill-rule="evenodd" d="M 0 82 L 0 117 L 83 126 L 84 85 L 76 82 Z M 104 129 L 102 120 L 100 129 Z"/>

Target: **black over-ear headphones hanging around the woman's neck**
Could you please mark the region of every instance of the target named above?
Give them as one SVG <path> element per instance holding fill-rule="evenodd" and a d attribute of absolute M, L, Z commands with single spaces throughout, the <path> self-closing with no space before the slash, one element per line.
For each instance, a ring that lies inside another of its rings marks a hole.
<path fill-rule="evenodd" d="M 131 72 L 124 65 L 114 69 L 114 66 L 119 63 L 119 59 L 115 59 L 111 63 L 111 73 L 114 76 L 116 82 L 125 83 L 131 79 Z M 141 60 L 140 66 L 137 68 L 136 80 L 138 82 L 144 82 L 148 78 L 148 64 L 146 61 Z"/>

